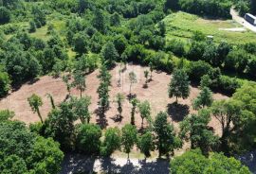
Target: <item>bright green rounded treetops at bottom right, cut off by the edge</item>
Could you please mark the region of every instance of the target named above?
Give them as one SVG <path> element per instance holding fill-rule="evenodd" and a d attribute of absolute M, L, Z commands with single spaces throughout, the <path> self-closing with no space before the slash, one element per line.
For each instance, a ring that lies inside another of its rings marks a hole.
<path fill-rule="evenodd" d="M 171 173 L 245 173 L 247 166 L 233 157 L 228 158 L 221 153 L 213 153 L 209 158 L 202 155 L 199 149 L 185 152 L 171 161 Z"/>

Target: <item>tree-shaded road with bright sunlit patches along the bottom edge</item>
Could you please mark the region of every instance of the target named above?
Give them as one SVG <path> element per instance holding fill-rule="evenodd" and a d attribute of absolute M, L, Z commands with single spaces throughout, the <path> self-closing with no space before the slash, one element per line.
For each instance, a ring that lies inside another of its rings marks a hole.
<path fill-rule="evenodd" d="M 100 164 L 98 164 L 100 163 Z M 66 173 L 95 173 L 95 169 L 101 173 L 121 173 L 121 174 L 168 174 L 169 161 L 157 159 L 156 161 L 146 162 L 145 160 L 126 160 L 113 159 L 111 157 L 89 157 L 82 154 L 69 153 L 64 157 L 60 174 Z M 137 165 L 135 165 L 137 164 Z M 101 166 L 100 166 L 101 165 Z"/>

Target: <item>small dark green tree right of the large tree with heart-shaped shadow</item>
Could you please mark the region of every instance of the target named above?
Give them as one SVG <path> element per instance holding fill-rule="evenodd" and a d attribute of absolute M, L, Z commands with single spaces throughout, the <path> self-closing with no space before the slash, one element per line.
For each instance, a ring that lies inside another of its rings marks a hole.
<path fill-rule="evenodd" d="M 213 102 L 212 93 L 208 87 L 203 87 L 202 91 L 200 92 L 199 96 L 197 96 L 193 102 L 192 107 L 195 110 L 210 107 Z"/>

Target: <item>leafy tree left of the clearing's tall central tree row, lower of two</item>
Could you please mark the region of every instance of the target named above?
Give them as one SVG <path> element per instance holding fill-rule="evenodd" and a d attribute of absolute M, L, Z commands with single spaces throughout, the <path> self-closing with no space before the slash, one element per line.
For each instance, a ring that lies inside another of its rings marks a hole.
<path fill-rule="evenodd" d="M 74 113 L 80 118 L 82 124 L 90 122 L 91 113 L 89 106 L 91 104 L 90 96 L 82 96 L 81 98 L 72 97 Z"/>

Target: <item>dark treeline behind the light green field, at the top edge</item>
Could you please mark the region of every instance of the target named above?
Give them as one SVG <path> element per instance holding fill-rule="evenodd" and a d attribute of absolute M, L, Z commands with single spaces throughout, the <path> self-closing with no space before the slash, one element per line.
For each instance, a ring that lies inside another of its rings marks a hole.
<path fill-rule="evenodd" d="M 167 0 L 165 9 L 184 10 L 192 14 L 208 17 L 230 18 L 230 0 Z"/>

